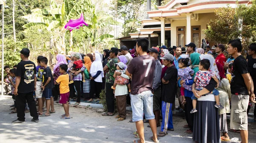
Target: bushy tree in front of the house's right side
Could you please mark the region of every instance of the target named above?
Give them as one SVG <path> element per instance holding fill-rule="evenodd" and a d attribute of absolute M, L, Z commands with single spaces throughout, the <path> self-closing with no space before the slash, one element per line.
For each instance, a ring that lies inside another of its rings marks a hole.
<path fill-rule="evenodd" d="M 208 28 L 204 31 L 209 42 L 215 44 L 227 44 L 231 39 L 242 39 L 243 50 L 245 55 L 247 45 L 256 41 L 255 17 L 256 0 L 250 7 L 238 5 L 236 9 L 230 6 L 215 10 L 216 20 L 210 20 Z"/>

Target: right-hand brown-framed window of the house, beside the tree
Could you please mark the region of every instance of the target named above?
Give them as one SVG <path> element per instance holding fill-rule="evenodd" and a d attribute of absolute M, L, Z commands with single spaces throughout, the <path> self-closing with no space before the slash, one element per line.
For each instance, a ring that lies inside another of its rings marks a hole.
<path fill-rule="evenodd" d="M 201 28 L 200 26 L 191 26 L 191 41 L 197 48 L 201 48 Z"/>

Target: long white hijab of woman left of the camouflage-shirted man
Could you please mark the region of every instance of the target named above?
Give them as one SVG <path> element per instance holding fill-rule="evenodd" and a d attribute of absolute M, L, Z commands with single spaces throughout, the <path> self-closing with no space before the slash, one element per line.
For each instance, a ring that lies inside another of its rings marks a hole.
<path fill-rule="evenodd" d="M 101 62 L 99 53 L 95 53 L 95 60 L 91 64 L 91 67 L 90 67 L 91 76 L 95 76 L 97 71 L 102 71 L 102 73 L 96 79 L 94 79 L 94 81 L 102 82 L 102 78 L 104 77 L 104 72 L 103 72 L 102 62 Z"/>

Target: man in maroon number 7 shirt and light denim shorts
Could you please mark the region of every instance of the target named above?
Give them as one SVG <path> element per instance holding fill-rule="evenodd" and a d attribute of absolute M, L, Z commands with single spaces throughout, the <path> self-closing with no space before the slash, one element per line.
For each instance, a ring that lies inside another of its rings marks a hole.
<path fill-rule="evenodd" d="M 155 70 L 155 59 L 149 56 L 148 39 L 137 39 L 136 52 L 139 57 L 131 60 L 127 67 L 126 75 L 132 76 L 131 82 L 131 108 L 132 121 L 136 122 L 136 128 L 140 140 L 134 140 L 133 143 L 145 143 L 143 113 L 145 119 L 149 121 L 149 125 L 153 132 L 153 137 L 150 137 L 154 142 L 157 139 L 157 124 L 153 112 L 153 79 Z"/>

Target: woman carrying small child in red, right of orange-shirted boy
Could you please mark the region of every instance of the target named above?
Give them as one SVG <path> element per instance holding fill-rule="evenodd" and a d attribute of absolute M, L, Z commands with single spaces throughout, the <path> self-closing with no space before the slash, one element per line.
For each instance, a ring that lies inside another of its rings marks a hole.
<path fill-rule="evenodd" d="M 83 65 L 81 67 L 81 69 L 79 71 L 76 71 L 74 72 L 73 70 L 71 70 L 70 67 L 73 66 L 73 63 L 74 63 L 74 60 L 73 60 L 73 56 L 77 55 L 80 53 L 76 53 L 76 52 L 73 52 L 70 54 L 70 58 L 72 59 L 72 62 L 69 63 L 68 65 L 68 71 L 70 73 L 74 73 L 73 75 L 73 81 L 74 81 L 74 85 L 76 87 L 76 92 L 77 92 L 77 100 L 76 100 L 76 103 L 74 104 L 74 107 L 78 106 L 81 102 L 81 81 L 82 81 L 82 74 L 81 72 L 83 72 L 85 70 L 85 66 Z M 81 55 L 79 56 L 79 59 L 82 59 Z M 70 85 L 70 97 L 73 97 L 74 95 L 74 86 L 72 86 L 72 84 L 69 84 Z"/>

